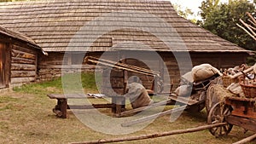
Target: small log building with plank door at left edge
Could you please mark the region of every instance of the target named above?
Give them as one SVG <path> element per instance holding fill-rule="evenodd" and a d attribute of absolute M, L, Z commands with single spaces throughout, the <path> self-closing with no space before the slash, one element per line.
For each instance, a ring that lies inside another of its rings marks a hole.
<path fill-rule="evenodd" d="M 0 27 L 0 89 L 34 82 L 41 50 L 30 37 Z"/>

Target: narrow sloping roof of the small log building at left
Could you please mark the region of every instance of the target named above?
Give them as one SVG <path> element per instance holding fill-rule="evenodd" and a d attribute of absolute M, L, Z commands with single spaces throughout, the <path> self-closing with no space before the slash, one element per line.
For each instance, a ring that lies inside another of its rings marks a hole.
<path fill-rule="evenodd" d="M 23 35 L 20 32 L 13 32 L 13 31 L 10 31 L 6 28 L 0 27 L 0 35 L 3 36 L 3 37 L 8 37 L 9 40 L 15 39 L 17 41 L 22 41 L 23 43 L 26 43 L 26 44 L 30 45 L 31 47 L 33 47 L 33 48 L 41 49 L 35 43 L 35 41 L 32 40 L 32 38 L 26 37 L 25 35 Z"/>

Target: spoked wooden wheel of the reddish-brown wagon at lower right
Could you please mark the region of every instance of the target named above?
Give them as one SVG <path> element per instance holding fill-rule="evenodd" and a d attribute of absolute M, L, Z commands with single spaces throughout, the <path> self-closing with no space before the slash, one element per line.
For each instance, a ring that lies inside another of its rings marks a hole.
<path fill-rule="evenodd" d="M 218 124 L 218 123 L 225 123 L 225 116 L 230 115 L 232 108 L 229 105 L 220 104 L 218 102 L 215 104 L 210 112 L 208 113 L 207 117 L 207 123 L 208 124 Z M 230 131 L 232 130 L 233 125 L 232 124 L 226 124 L 224 126 L 215 127 L 212 129 L 209 129 L 212 135 L 219 137 L 223 135 L 228 135 Z"/>

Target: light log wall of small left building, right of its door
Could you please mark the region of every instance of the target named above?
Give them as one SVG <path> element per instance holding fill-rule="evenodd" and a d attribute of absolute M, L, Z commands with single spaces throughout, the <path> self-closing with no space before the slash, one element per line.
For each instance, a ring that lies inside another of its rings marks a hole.
<path fill-rule="evenodd" d="M 35 82 L 37 78 L 38 50 L 24 44 L 11 43 L 11 86 Z"/>

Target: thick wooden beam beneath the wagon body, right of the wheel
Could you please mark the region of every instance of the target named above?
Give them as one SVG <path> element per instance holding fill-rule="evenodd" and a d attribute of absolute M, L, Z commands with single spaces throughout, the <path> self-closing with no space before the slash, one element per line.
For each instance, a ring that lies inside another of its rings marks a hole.
<path fill-rule="evenodd" d="M 256 120 L 255 119 L 242 118 L 242 117 L 230 115 L 230 116 L 225 117 L 225 120 L 229 124 L 233 124 L 233 125 L 239 126 L 241 128 L 244 128 L 246 130 L 252 130 L 252 131 L 256 132 Z"/>

